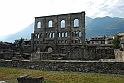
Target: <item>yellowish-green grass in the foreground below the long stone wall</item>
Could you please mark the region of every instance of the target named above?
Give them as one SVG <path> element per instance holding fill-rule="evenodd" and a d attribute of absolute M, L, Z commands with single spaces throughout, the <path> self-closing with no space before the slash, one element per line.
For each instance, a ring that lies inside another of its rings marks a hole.
<path fill-rule="evenodd" d="M 45 83 L 124 83 L 124 76 L 117 75 L 50 72 L 0 67 L 0 80 L 17 83 L 16 78 L 22 75 L 43 76 Z"/>

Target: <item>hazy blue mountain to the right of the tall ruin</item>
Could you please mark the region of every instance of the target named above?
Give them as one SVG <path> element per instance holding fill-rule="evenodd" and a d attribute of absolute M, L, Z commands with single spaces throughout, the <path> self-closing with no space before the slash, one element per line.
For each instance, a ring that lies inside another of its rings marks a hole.
<path fill-rule="evenodd" d="M 98 35 L 114 35 L 118 32 L 124 32 L 124 22 L 117 24 L 117 22 L 121 22 L 122 20 L 124 21 L 123 18 L 111 18 L 109 16 L 103 18 L 95 18 L 88 25 L 86 25 L 86 38 Z M 117 25 L 107 28 L 113 24 Z"/>

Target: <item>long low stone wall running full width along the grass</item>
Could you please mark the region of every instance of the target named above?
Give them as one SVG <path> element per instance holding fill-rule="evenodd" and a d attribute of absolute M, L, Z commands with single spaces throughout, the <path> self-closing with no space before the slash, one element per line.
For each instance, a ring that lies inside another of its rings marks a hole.
<path fill-rule="evenodd" d="M 25 69 L 69 71 L 82 73 L 105 73 L 124 75 L 124 62 L 100 62 L 100 61 L 0 61 L 1 67 L 17 67 Z"/>

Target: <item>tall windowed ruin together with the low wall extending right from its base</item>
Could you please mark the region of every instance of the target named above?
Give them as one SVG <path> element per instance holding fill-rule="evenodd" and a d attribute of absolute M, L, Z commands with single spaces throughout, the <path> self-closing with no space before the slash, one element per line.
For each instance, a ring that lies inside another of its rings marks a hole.
<path fill-rule="evenodd" d="M 75 26 L 75 20 L 78 20 L 78 26 Z M 62 21 L 64 21 L 64 27 L 61 27 Z M 50 22 L 52 24 L 49 24 Z M 31 47 L 34 51 L 32 57 L 36 56 L 37 60 L 115 58 L 113 49 L 96 49 L 95 47 L 80 49 L 81 46 L 85 46 L 85 12 L 35 17 Z M 52 53 L 46 53 L 49 48 L 52 49 Z M 37 50 L 41 53 L 35 53 Z"/>

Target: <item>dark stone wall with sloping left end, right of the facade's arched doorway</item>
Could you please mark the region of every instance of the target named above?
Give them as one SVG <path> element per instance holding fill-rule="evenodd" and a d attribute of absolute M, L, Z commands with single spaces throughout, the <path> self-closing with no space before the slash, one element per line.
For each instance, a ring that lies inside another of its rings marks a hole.
<path fill-rule="evenodd" d="M 115 59 L 114 49 L 96 49 L 96 48 L 75 48 L 70 51 L 66 60 L 99 60 L 99 59 Z"/>

